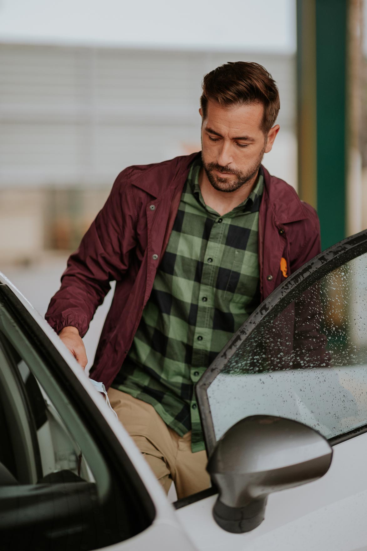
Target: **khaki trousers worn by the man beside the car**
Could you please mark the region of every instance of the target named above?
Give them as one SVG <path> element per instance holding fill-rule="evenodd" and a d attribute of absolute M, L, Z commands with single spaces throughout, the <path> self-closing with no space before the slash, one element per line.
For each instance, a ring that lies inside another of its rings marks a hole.
<path fill-rule="evenodd" d="M 191 452 L 191 431 L 179 436 L 153 406 L 115 388 L 108 398 L 166 493 L 172 480 L 178 499 L 210 487 L 206 452 Z"/>

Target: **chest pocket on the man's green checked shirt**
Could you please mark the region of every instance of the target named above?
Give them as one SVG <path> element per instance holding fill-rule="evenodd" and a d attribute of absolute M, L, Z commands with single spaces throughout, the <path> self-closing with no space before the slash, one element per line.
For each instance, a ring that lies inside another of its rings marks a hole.
<path fill-rule="evenodd" d="M 259 257 L 257 252 L 235 249 L 224 300 L 247 302 L 259 290 Z"/>

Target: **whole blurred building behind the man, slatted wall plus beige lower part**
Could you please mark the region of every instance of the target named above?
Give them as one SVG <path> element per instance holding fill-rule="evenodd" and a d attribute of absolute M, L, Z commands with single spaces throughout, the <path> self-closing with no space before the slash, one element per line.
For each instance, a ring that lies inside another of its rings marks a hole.
<path fill-rule="evenodd" d="M 294 55 L 2 44 L 2 261 L 75 249 L 122 169 L 199 151 L 202 77 L 238 60 L 275 75 L 266 161 L 297 187 Z"/>

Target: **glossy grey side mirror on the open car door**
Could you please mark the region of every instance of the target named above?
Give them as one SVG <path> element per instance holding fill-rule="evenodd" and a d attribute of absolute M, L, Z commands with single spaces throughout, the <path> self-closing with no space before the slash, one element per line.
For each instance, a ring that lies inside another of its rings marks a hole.
<path fill-rule="evenodd" d="M 218 488 L 213 516 L 227 532 L 254 530 L 267 496 L 324 476 L 332 448 L 309 426 L 273 415 L 252 415 L 217 442 L 207 471 Z"/>

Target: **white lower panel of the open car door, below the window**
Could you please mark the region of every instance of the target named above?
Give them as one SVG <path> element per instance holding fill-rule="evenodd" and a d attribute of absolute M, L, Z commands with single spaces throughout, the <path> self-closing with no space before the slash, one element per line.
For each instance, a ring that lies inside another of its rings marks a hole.
<path fill-rule="evenodd" d="M 245 534 L 216 524 L 211 514 L 216 495 L 177 515 L 200 551 L 367 550 L 366 457 L 367 433 L 336 445 L 324 477 L 271 494 L 264 521 Z"/>

